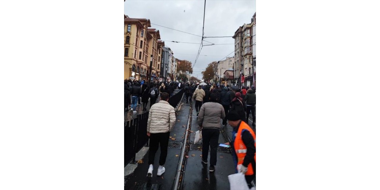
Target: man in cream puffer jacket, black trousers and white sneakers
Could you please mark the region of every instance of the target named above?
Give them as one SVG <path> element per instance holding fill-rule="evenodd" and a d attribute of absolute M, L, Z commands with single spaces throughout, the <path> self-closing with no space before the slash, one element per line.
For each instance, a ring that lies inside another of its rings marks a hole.
<path fill-rule="evenodd" d="M 149 136 L 149 156 L 148 156 L 148 177 L 152 177 L 154 156 L 158 150 L 158 143 L 161 147 L 160 166 L 158 167 L 157 176 L 161 176 L 165 172 L 163 165 L 168 154 L 168 143 L 170 131 L 176 122 L 176 112 L 173 106 L 168 103 L 169 94 L 164 92 L 161 94 L 161 100 L 152 105 L 149 110 L 147 123 L 147 135 Z"/>

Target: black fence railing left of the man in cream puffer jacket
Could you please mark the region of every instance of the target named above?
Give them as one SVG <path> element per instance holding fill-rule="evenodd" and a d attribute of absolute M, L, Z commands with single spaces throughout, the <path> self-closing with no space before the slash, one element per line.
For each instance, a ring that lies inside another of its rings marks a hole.
<path fill-rule="evenodd" d="M 180 90 L 168 102 L 176 108 L 180 101 L 184 90 Z M 149 137 L 146 135 L 149 112 L 139 114 L 135 119 L 124 122 L 124 167 L 128 163 L 136 163 L 136 153 L 148 142 Z"/>

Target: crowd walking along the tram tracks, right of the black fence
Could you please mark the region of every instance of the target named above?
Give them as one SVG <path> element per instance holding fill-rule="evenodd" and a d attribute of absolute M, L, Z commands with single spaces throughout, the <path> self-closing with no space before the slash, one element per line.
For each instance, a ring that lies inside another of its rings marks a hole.
<path fill-rule="evenodd" d="M 157 176 L 165 173 L 165 161 L 168 154 L 168 142 L 170 132 L 173 130 L 176 115 L 173 106 L 168 100 L 173 95 L 173 88 L 184 88 L 186 103 L 195 100 L 197 123 L 202 132 L 202 157 L 201 163 L 208 164 L 210 150 L 209 172 L 215 171 L 217 163 L 217 147 L 221 124 L 230 124 L 233 127 L 231 146 L 233 151 L 233 164 L 236 173 L 245 174 L 245 180 L 249 188 L 253 185 L 256 175 L 256 133 L 255 129 L 255 88 L 237 86 L 201 86 L 195 83 L 185 85 L 178 84 L 151 84 L 148 95 L 157 94 L 156 86 L 159 86 L 160 101 L 151 105 L 147 123 L 147 136 L 149 143 L 149 168 L 147 177 L 152 177 L 154 170 L 154 157 L 160 145 L 160 159 Z M 172 87 L 172 88 L 171 88 Z M 136 88 L 136 92 L 137 92 Z M 153 92 L 154 91 L 154 92 Z M 144 95 L 144 92 L 142 93 Z M 136 101 L 136 98 L 134 99 Z M 153 99 L 155 101 L 155 99 Z M 151 99 L 152 104 L 152 99 Z M 252 114 L 252 126 L 249 125 L 249 114 Z M 221 123 L 221 119 L 222 123 Z"/>

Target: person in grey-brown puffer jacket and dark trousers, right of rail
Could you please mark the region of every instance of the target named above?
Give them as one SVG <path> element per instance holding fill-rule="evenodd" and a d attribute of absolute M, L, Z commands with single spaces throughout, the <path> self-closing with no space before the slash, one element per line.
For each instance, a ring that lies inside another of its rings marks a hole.
<path fill-rule="evenodd" d="M 207 157 L 210 148 L 210 168 L 215 171 L 217 162 L 217 149 L 220 130 L 220 119 L 225 118 L 224 108 L 217 101 L 218 96 L 214 93 L 210 95 L 209 102 L 204 103 L 199 110 L 198 125 L 202 131 L 202 157 L 201 161 L 207 164 Z"/>

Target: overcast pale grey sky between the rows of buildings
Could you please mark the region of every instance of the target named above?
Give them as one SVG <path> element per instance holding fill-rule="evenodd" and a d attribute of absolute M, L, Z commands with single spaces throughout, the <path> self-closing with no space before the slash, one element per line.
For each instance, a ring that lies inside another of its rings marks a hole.
<path fill-rule="evenodd" d="M 126 0 L 124 14 L 130 18 L 150 19 L 152 27 L 160 30 L 161 40 L 170 47 L 174 57 L 194 63 L 200 44 L 173 43 L 169 41 L 200 43 L 203 27 L 204 0 Z M 206 0 L 204 36 L 233 36 L 244 23 L 249 24 L 256 12 L 255 0 Z M 174 28 L 178 32 L 161 26 Z M 219 61 L 234 51 L 233 38 L 206 38 L 214 44 L 204 46 L 193 68 L 193 76 L 202 78 L 208 63 Z M 207 44 L 207 42 L 204 42 Z M 189 54 L 189 55 L 185 55 Z M 202 56 L 207 55 L 207 56 Z M 216 56 L 211 56 L 216 55 Z M 234 56 L 234 53 L 228 57 Z"/>

